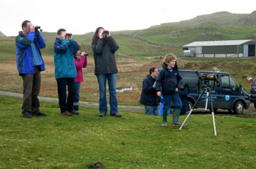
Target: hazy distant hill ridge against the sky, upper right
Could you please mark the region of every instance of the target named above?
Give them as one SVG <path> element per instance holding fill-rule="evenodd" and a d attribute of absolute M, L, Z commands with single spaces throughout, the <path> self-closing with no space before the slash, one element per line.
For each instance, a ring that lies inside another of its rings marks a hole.
<path fill-rule="evenodd" d="M 202 23 L 217 23 L 217 25 L 256 25 L 256 10 L 250 14 L 236 14 L 231 12 L 215 12 L 208 15 L 199 15 L 190 20 L 181 20 L 177 23 L 162 23 L 154 25 L 151 28 L 159 26 L 187 26 L 200 25 Z"/>

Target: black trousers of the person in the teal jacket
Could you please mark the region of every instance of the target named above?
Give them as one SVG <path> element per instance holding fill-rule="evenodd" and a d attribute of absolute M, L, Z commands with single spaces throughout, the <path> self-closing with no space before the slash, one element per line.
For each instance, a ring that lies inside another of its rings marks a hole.
<path fill-rule="evenodd" d="M 75 78 L 59 78 L 57 79 L 57 85 L 59 108 L 61 109 L 61 113 L 65 111 L 73 111 L 73 103 L 75 99 Z"/>

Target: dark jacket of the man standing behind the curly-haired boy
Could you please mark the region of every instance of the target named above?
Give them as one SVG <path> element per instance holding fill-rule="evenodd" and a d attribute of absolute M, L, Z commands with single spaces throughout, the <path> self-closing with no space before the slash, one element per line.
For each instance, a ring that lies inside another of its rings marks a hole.
<path fill-rule="evenodd" d="M 143 89 L 140 95 L 140 104 L 145 106 L 158 106 L 161 101 L 157 96 L 155 88 L 153 88 L 153 84 L 156 82 L 156 79 L 153 79 L 150 74 L 146 76 L 143 80 Z"/>

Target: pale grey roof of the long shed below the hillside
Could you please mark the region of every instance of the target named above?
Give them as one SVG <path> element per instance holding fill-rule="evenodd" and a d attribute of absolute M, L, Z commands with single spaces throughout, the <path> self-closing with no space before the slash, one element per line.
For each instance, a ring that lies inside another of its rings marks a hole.
<path fill-rule="evenodd" d="M 205 47 L 205 46 L 233 46 L 240 45 L 246 42 L 255 42 L 252 39 L 247 40 L 233 40 L 233 41 L 203 41 L 203 42 L 192 42 L 186 44 L 183 47 Z"/>

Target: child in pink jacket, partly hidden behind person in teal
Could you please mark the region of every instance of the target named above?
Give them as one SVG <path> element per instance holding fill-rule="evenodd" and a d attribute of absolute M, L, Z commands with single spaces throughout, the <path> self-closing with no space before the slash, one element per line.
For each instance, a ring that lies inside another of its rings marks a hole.
<path fill-rule="evenodd" d="M 82 68 L 86 68 L 87 66 L 87 57 L 86 52 L 81 52 L 78 50 L 74 54 L 74 61 L 75 61 L 75 67 L 77 69 L 77 76 L 75 77 L 75 100 L 74 100 L 74 110 L 78 113 L 78 107 L 79 107 L 79 94 L 80 94 L 80 82 L 83 82 L 83 70 Z M 79 113 L 78 113 L 79 114 Z"/>

